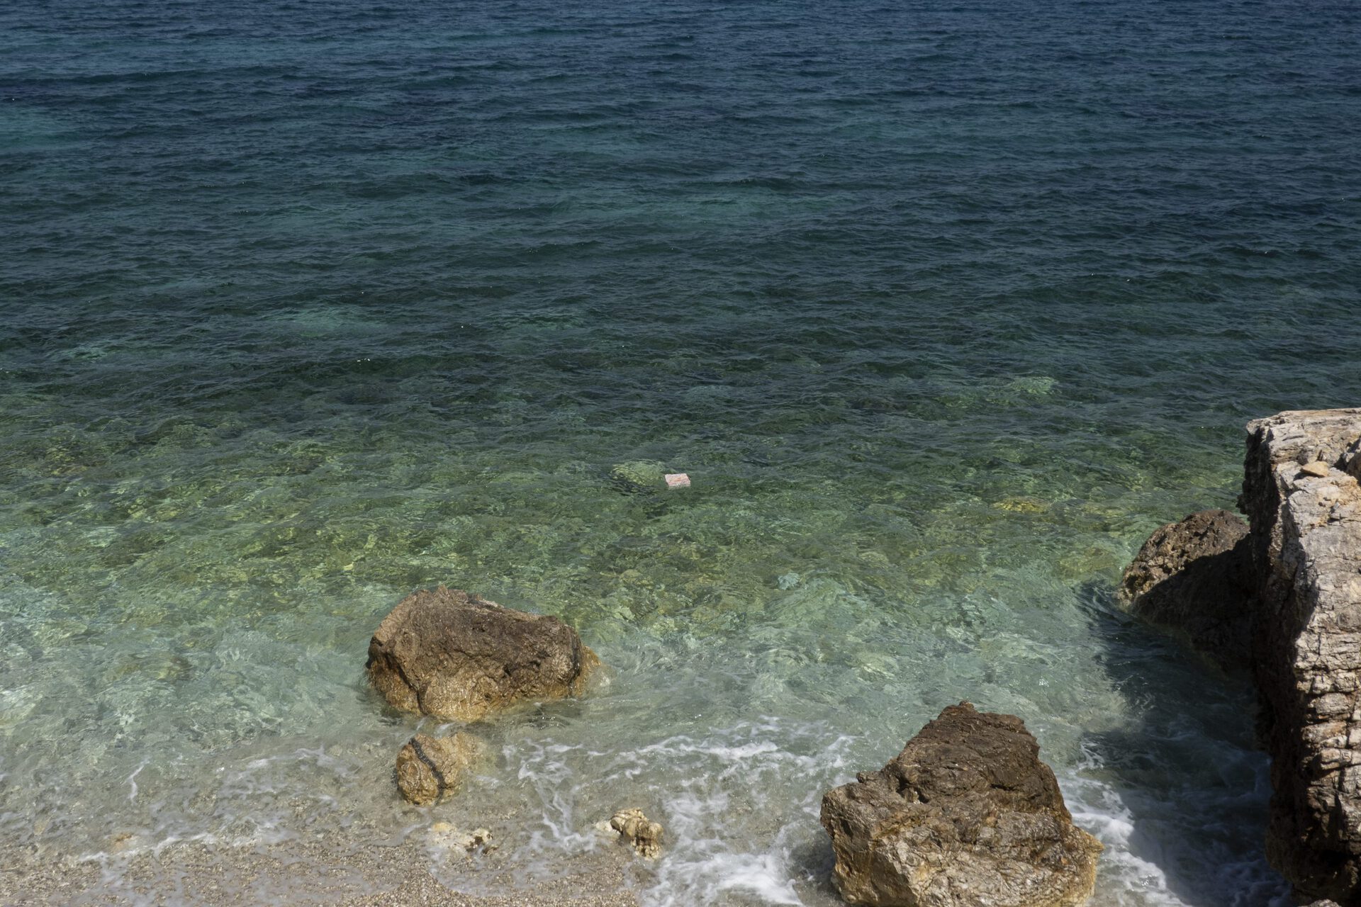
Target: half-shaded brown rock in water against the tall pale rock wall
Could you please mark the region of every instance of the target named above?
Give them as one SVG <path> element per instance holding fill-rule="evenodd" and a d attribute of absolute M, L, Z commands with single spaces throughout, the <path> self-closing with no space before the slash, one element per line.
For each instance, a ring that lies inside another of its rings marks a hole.
<path fill-rule="evenodd" d="M 1221 665 L 1249 664 L 1256 575 L 1248 524 L 1202 510 L 1161 526 L 1126 567 L 1120 597 Z"/>

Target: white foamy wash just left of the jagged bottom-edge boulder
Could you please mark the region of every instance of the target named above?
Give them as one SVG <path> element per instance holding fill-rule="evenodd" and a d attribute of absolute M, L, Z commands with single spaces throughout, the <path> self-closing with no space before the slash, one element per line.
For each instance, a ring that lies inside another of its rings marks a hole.
<path fill-rule="evenodd" d="M 595 823 L 641 806 L 666 829 L 640 883 L 644 903 L 800 904 L 808 853 L 825 847 L 817 798 L 851 744 L 825 725 L 762 718 L 614 751 L 517 740 L 504 756 L 538 802 L 531 876 L 607 843 Z"/>

